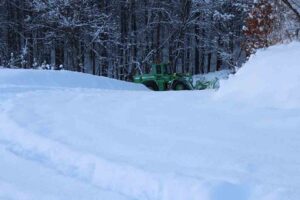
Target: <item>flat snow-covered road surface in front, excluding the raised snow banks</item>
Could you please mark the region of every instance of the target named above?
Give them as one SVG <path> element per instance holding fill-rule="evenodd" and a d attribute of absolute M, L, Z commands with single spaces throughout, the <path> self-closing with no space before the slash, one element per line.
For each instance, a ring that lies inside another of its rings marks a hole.
<path fill-rule="evenodd" d="M 0 105 L 1 163 L 15 163 L 1 165 L 0 180 L 21 191 L 41 181 L 55 199 L 296 199 L 300 110 L 225 107 L 210 95 L 17 92 Z"/>

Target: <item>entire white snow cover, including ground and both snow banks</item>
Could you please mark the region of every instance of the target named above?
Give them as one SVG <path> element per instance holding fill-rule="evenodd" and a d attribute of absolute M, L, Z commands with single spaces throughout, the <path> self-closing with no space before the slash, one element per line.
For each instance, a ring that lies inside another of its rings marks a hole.
<path fill-rule="evenodd" d="M 260 51 L 219 91 L 2 69 L 0 199 L 299 200 L 299 55 Z"/>

